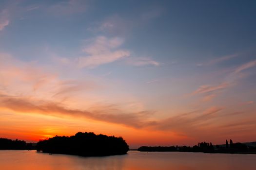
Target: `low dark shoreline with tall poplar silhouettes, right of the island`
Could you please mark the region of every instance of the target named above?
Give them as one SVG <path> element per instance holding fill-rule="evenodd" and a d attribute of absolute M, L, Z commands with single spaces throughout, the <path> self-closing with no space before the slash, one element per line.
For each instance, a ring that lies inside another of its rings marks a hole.
<path fill-rule="evenodd" d="M 201 142 L 193 147 L 190 146 L 141 146 L 138 148 L 140 152 L 195 152 L 195 153 L 247 153 L 256 154 L 256 147 L 252 146 L 252 143 L 248 142 L 250 145 L 244 143 L 233 143 L 230 140 L 230 144 L 226 140 L 225 145 L 216 145 L 212 143 Z"/>

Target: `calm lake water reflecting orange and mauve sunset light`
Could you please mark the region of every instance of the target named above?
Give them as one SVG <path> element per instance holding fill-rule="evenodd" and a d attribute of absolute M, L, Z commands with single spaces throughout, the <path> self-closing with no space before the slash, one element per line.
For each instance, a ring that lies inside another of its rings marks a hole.
<path fill-rule="evenodd" d="M 146 153 L 81 157 L 0 151 L 1 170 L 256 170 L 256 154 Z"/>

